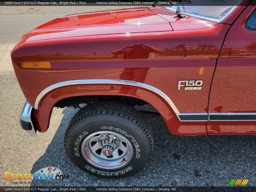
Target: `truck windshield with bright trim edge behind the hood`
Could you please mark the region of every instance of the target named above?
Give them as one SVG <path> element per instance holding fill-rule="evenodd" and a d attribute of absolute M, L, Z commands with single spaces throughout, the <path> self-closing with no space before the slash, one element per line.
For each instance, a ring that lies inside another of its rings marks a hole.
<path fill-rule="evenodd" d="M 207 0 L 206 0 L 207 1 Z M 226 0 L 226 1 L 211 1 L 209 6 L 193 6 L 192 3 L 189 5 L 182 1 L 179 3 L 180 11 L 183 14 L 191 15 L 193 17 L 198 17 L 202 19 L 207 19 L 210 21 L 221 22 L 225 19 L 242 0 Z M 217 5 L 217 6 L 214 6 Z M 223 5 L 220 5 L 223 4 Z M 166 9 L 176 11 L 177 5 L 175 6 L 165 6 Z"/>

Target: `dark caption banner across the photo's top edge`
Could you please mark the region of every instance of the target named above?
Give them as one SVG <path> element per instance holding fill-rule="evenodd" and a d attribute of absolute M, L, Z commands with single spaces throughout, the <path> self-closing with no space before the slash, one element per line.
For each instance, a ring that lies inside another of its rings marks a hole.
<path fill-rule="evenodd" d="M 178 3 L 179 1 L 179 3 Z M 108 1 L 108 0 L 73 0 L 73 1 L 3 1 L 0 6 L 247 6 L 256 5 L 256 0 L 144 0 L 144 1 Z"/>

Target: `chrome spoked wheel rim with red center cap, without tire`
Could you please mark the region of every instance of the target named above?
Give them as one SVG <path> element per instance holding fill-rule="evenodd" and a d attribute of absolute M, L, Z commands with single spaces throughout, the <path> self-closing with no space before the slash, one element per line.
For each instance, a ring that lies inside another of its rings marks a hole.
<path fill-rule="evenodd" d="M 82 143 L 82 154 L 87 162 L 102 169 L 118 169 L 129 163 L 133 147 L 123 135 L 113 131 L 97 131 Z"/>

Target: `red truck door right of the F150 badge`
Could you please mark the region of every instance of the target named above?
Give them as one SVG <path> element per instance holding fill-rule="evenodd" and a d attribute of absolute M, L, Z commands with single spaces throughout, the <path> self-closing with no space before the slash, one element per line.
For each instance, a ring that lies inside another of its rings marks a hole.
<path fill-rule="evenodd" d="M 248 6 L 222 46 L 209 97 L 209 134 L 256 133 L 256 9 Z"/>

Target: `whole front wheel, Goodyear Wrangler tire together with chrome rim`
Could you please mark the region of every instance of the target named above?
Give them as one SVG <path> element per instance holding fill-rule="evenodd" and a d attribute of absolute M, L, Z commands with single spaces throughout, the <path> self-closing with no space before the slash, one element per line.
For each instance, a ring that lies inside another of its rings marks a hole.
<path fill-rule="evenodd" d="M 136 173 L 153 151 L 152 131 L 143 115 L 116 102 L 97 102 L 79 110 L 64 143 L 75 165 L 105 178 Z"/>

